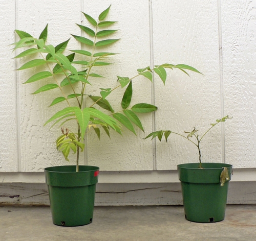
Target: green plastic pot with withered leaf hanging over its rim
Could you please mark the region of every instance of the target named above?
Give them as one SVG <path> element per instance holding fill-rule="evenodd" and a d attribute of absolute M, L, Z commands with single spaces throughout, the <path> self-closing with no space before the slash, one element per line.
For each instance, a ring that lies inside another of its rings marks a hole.
<path fill-rule="evenodd" d="M 199 223 L 224 220 L 227 203 L 228 181 L 220 185 L 223 167 L 231 179 L 232 165 L 225 163 L 186 163 L 178 165 L 185 218 Z"/>

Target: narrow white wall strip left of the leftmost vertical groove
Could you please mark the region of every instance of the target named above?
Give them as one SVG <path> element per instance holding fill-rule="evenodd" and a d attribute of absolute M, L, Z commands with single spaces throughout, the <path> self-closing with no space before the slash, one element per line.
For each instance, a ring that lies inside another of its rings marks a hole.
<path fill-rule="evenodd" d="M 15 62 L 9 44 L 15 41 L 14 1 L 0 1 L 0 172 L 18 171 Z"/>

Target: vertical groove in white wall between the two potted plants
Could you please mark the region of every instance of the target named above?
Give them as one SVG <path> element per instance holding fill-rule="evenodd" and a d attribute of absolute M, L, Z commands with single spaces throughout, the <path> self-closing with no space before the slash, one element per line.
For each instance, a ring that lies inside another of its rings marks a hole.
<path fill-rule="evenodd" d="M 148 2 L 149 9 L 149 21 L 150 21 L 150 67 L 154 68 L 154 44 L 153 44 L 153 7 L 152 1 Z M 155 81 L 154 81 L 154 73 L 153 73 L 153 81 L 151 84 L 151 103 L 155 105 Z M 152 113 L 152 132 L 156 131 L 156 114 Z M 157 170 L 157 151 L 156 151 L 156 139 L 152 140 L 152 154 L 153 154 L 153 170 Z"/>

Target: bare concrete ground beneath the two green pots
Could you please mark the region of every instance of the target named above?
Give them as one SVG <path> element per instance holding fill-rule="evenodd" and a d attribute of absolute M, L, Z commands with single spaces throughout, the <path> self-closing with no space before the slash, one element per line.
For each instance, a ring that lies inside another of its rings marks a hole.
<path fill-rule="evenodd" d="M 193 223 L 182 206 L 95 207 L 93 223 L 60 227 L 50 207 L 0 207 L 0 240 L 26 241 L 183 241 L 256 240 L 256 205 L 229 205 L 225 220 Z"/>

